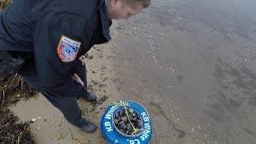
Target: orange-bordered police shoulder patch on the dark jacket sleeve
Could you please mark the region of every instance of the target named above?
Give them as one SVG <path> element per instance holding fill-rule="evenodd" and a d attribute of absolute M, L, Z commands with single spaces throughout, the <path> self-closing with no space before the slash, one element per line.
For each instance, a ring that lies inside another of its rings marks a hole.
<path fill-rule="evenodd" d="M 62 35 L 62 38 L 58 42 L 58 56 L 62 59 L 62 62 L 72 62 L 77 57 L 78 50 L 81 46 L 81 42 L 74 41 Z"/>

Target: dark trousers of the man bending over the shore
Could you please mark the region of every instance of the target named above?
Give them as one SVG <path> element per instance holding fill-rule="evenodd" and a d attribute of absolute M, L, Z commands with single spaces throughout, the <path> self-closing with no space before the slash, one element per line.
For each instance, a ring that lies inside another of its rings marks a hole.
<path fill-rule="evenodd" d="M 86 97 L 87 94 L 87 84 L 86 84 L 86 66 L 82 66 L 82 62 L 77 61 L 72 68 L 71 74 L 78 74 L 78 76 L 82 79 L 85 86 L 82 91 L 78 91 L 78 94 L 84 94 Z M 30 61 L 26 62 L 25 66 L 22 67 L 21 70 L 18 71 L 18 74 L 25 79 L 26 83 L 34 88 L 35 90 L 40 91 L 49 102 L 58 108 L 66 118 L 68 122 L 70 122 L 74 126 L 79 126 L 82 124 L 82 114 L 80 108 L 78 107 L 77 97 L 70 95 L 70 97 L 62 97 L 61 95 L 53 95 L 44 90 L 44 86 L 47 83 L 41 82 L 38 77 L 34 66 L 34 60 L 30 59 Z M 61 89 L 60 89 L 61 91 Z"/>

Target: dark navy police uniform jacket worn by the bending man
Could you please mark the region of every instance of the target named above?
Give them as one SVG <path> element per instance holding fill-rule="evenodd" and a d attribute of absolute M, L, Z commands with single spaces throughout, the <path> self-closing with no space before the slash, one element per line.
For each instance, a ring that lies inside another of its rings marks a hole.
<path fill-rule="evenodd" d="M 78 90 L 70 68 L 94 44 L 110 41 L 112 23 L 105 0 L 14 0 L 0 20 L 0 50 L 33 51 L 45 89 L 70 96 Z M 58 54 L 62 36 L 81 42 L 71 62 L 63 62 Z"/>

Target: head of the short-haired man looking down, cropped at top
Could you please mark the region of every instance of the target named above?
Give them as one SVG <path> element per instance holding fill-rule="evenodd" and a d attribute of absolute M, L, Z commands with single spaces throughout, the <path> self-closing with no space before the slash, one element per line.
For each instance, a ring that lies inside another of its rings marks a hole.
<path fill-rule="evenodd" d="M 129 19 L 150 6 L 151 0 L 107 0 L 107 15 L 110 19 Z"/>

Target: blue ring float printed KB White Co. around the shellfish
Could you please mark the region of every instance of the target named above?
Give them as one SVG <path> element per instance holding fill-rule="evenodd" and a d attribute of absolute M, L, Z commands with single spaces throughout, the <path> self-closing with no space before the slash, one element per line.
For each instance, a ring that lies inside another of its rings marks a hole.
<path fill-rule="evenodd" d="M 125 102 L 127 108 L 132 108 L 142 118 L 142 130 L 138 134 L 132 136 L 122 134 L 122 132 L 114 126 L 114 115 L 119 110 L 122 110 L 123 106 L 111 105 L 107 107 L 105 113 L 102 115 L 101 122 L 102 134 L 106 138 L 106 141 L 111 144 L 144 144 L 150 142 L 152 137 L 152 122 L 145 107 L 134 101 L 122 102 Z"/>

